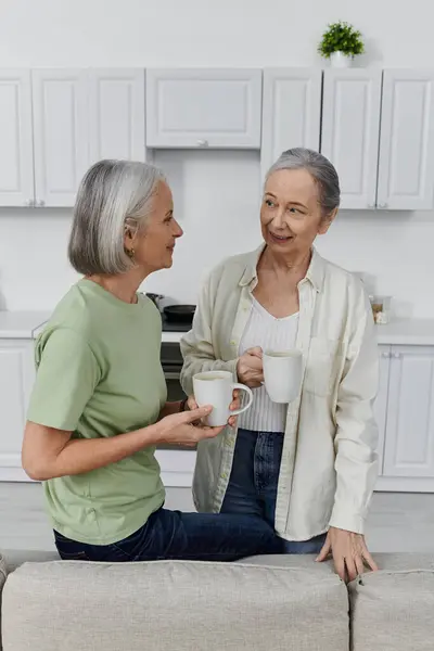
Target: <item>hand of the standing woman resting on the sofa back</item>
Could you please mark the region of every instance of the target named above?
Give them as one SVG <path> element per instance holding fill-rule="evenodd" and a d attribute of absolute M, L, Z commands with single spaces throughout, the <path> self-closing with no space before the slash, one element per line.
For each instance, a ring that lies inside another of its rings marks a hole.
<path fill-rule="evenodd" d="M 366 546 L 365 536 L 331 526 L 326 542 L 317 558 L 326 561 L 333 554 L 334 569 L 342 580 L 348 583 L 365 572 L 365 564 L 373 572 L 378 566 Z"/>

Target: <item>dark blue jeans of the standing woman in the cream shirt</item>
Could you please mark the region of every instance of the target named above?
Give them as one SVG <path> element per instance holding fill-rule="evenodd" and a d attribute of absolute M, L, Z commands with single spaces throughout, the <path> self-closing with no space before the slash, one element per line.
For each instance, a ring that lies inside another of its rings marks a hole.
<path fill-rule="evenodd" d="M 276 499 L 284 434 L 239 430 L 221 513 L 263 519 L 275 527 Z M 285 553 L 319 553 L 326 534 L 310 540 L 283 540 Z"/>

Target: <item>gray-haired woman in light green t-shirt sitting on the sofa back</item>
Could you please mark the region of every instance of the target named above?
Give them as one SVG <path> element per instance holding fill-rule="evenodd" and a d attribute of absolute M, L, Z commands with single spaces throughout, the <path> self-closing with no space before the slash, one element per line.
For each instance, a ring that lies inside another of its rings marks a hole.
<path fill-rule="evenodd" d="M 257 516 L 163 508 L 155 446 L 222 430 L 197 424 L 210 408 L 166 401 L 161 317 L 138 294 L 150 273 L 171 266 L 181 235 L 155 167 L 101 161 L 85 176 L 68 248 L 84 278 L 38 337 L 23 443 L 23 467 L 43 482 L 63 559 L 224 561 L 279 550 Z"/>

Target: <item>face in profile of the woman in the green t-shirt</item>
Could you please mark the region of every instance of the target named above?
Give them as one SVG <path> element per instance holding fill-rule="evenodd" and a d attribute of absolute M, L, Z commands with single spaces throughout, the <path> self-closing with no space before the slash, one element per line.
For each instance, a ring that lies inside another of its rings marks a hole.
<path fill-rule="evenodd" d="M 182 234 L 183 231 L 174 217 L 170 188 L 159 181 L 143 230 L 133 237 L 129 244 L 126 241 L 126 246 L 133 248 L 136 264 L 148 272 L 168 269 L 173 265 L 176 240 Z"/>

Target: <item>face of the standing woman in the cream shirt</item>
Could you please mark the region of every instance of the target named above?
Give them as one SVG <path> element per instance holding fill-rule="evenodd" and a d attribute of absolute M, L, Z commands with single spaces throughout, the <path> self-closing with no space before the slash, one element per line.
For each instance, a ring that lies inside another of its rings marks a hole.
<path fill-rule="evenodd" d="M 260 227 L 269 248 L 281 255 L 305 255 L 318 234 L 329 230 L 337 210 L 324 217 L 318 188 L 305 169 L 281 169 L 265 187 Z"/>

